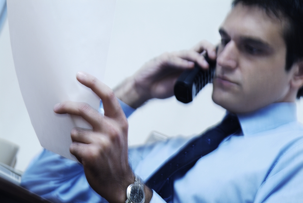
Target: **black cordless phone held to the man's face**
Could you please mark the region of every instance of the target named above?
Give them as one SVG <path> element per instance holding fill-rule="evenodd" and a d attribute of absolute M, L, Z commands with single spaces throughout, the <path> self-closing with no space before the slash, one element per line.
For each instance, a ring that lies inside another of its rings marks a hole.
<path fill-rule="evenodd" d="M 207 83 L 212 82 L 215 76 L 216 61 L 211 61 L 207 53 L 204 57 L 209 64 L 207 70 L 202 70 L 201 67 L 195 63 L 194 69 L 185 70 L 179 76 L 174 87 L 177 100 L 183 103 L 191 102 Z"/>

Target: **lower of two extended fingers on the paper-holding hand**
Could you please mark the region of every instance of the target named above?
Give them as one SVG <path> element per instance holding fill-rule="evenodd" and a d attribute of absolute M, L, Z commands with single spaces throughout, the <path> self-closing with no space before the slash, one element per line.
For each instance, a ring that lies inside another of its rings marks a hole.
<path fill-rule="evenodd" d="M 58 103 L 54 106 L 55 113 L 69 113 L 76 116 L 81 116 L 86 120 L 89 124 L 92 125 L 94 129 L 99 129 L 101 127 L 101 120 L 104 120 L 104 117 L 91 107 L 88 103 L 84 102 L 72 102 L 65 101 L 62 103 Z"/>

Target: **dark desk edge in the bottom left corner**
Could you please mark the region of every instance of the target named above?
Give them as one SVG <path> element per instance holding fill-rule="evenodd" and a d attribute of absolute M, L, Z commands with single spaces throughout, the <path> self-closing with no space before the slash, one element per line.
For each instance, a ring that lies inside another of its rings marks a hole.
<path fill-rule="evenodd" d="M 52 203 L 39 195 L 0 177 L 1 203 Z"/>

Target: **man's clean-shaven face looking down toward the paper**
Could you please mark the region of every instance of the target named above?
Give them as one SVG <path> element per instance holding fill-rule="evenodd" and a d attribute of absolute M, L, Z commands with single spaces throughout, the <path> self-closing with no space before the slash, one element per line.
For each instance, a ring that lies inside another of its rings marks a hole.
<path fill-rule="evenodd" d="M 232 9 L 219 30 L 215 103 L 245 113 L 289 101 L 291 71 L 285 71 L 282 22 L 255 6 L 238 4 Z"/>

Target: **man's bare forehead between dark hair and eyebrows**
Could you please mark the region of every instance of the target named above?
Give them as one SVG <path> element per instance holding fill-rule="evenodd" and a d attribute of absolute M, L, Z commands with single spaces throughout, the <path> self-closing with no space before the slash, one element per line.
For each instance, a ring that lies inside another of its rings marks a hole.
<path fill-rule="evenodd" d="M 221 28 L 231 39 L 249 37 L 259 39 L 268 45 L 285 46 L 283 23 L 283 20 L 269 16 L 258 6 L 246 6 L 239 3 L 227 15 Z"/>

